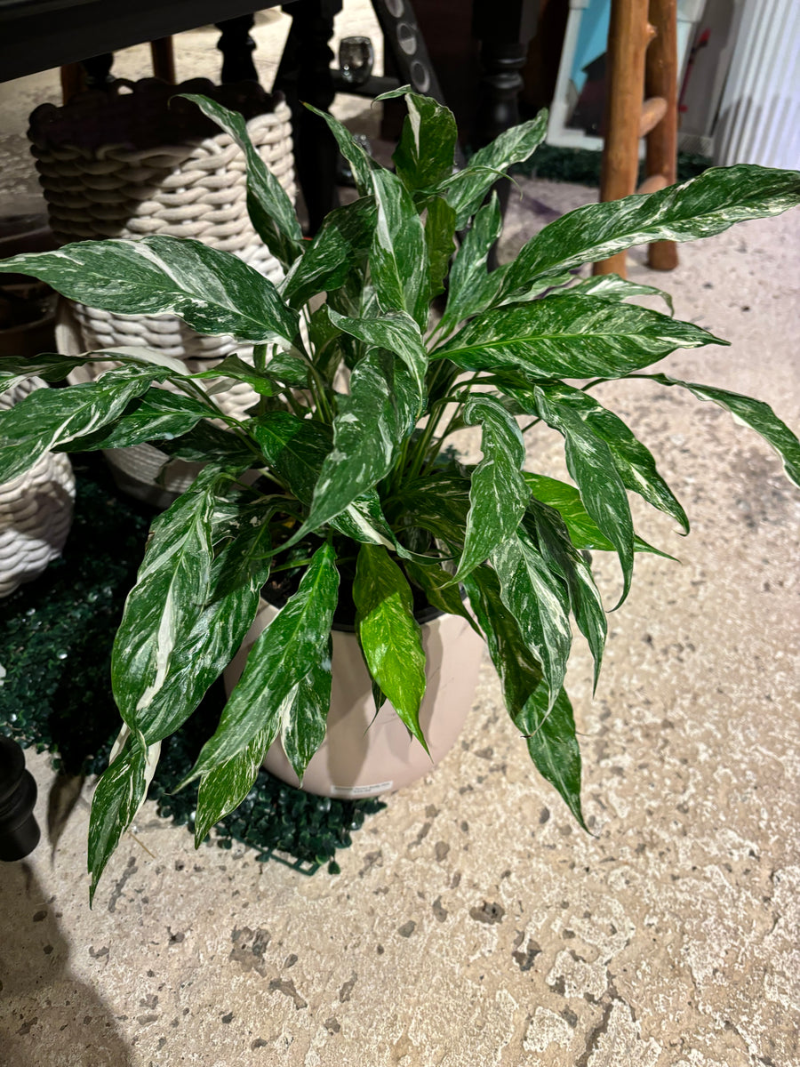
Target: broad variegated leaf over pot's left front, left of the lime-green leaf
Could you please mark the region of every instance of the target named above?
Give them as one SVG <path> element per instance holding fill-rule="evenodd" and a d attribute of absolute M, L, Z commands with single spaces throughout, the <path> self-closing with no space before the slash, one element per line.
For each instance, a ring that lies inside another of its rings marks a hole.
<path fill-rule="evenodd" d="M 237 755 L 260 731 L 271 745 L 281 730 L 284 700 L 298 682 L 314 669 L 327 671 L 330 678 L 331 623 L 338 588 L 333 547 L 323 544 L 315 552 L 298 591 L 256 638 L 217 731 L 182 784 Z"/>

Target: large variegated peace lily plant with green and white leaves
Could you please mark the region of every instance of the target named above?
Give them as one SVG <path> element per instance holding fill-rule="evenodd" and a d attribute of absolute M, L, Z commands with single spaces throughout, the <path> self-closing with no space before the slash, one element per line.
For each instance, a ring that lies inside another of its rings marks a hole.
<path fill-rule="evenodd" d="M 0 481 L 52 448 L 149 442 L 207 464 L 153 523 L 116 635 L 112 685 L 125 729 L 92 807 L 92 892 L 145 796 L 159 742 L 233 658 L 271 571 L 289 582 L 288 601 L 254 644 L 187 779 L 199 779 L 198 842 L 247 794 L 276 737 L 300 777 L 321 744 L 340 596 L 354 604 L 377 701 L 388 698 L 422 744 L 426 664 L 414 603 L 471 618 L 533 763 L 582 823 L 580 754 L 562 687 L 570 615 L 595 676 L 606 638 L 582 551 L 617 553 L 624 599 L 635 553 L 654 551 L 634 531 L 628 492 L 689 528 L 649 450 L 592 386 L 646 377 L 687 388 L 761 433 L 800 483 L 800 444 L 765 403 L 642 373 L 674 349 L 724 341 L 625 302 L 657 291 L 649 286 L 575 276 L 634 244 L 778 214 L 800 203 L 800 174 L 709 170 L 651 195 L 581 207 L 513 262 L 489 269 L 501 227 L 490 191 L 542 141 L 545 115 L 454 173 L 451 113 L 407 89 L 388 95 L 399 94 L 409 117 L 394 172 L 323 116 L 359 198 L 332 211 L 310 241 L 242 117 L 190 97 L 245 154 L 251 219 L 286 270 L 278 286 L 233 255 L 169 237 L 80 242 L 0 266 L 94 307 L 173 313 L 201 333 L 254 344 L 253 365 L 231 355 L 202 373 L 145 350 L 2 362 L 5 387 L 31 375 L 54 382 L 87 361 L 114 366 L 89 384 L 36 391 L 0 415 Z M 437 297 L 444 314 L 432 324 Z M 230 381 L 258 395 L 246 418 L 218 408 L 214 394 Z M 159 387 L 166 383 L 171 391 Z M 563 435 L 574 485 L 525 469 L 519 416 Z M 473 466 L 448 448 L 468 426 L 481 430 Z"/>

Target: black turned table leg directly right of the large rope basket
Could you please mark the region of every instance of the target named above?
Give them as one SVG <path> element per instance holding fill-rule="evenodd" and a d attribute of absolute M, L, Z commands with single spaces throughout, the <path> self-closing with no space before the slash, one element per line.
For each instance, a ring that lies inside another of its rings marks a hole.
<path fill-rule="evenodd" d="M 298 181 L 308 210 L 308 229 L 316 234 L 329 211 L 338 204 L 336 160 L 338 149 L 324 121 L 303 103 L 327 111 L 335 94 L 329 45 L 334 16 L 341 0 L 298 0 L 287 4 L 292 16 L 273 90 L 279 90 L 291 108 Z"/>

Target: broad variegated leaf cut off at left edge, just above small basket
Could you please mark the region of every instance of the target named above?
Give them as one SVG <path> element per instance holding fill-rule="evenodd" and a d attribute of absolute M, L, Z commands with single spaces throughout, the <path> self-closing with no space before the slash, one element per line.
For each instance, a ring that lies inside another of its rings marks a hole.
<path fill-rule="evenodd" d="M 0 484 L 28 471 L 46 451 L 117 421 L 150 382 L 169 375 L 155 365 L 117 367 L 96 382 L 34 389 L 0 412 Z"/>

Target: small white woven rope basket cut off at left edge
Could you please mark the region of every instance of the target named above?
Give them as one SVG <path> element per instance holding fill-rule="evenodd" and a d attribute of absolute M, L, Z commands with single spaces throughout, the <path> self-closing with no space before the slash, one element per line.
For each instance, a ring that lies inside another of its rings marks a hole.
<path fill-rule="evenodd" d="M 28 379 L 0 394 L 0 410 L 47 387 L 41 378 Z M 61 555 L 74 500 L 73 466 L 62 452 L 46 452 L 30 471 L 0 485 L 0 596 L 38 577 Z"/>

